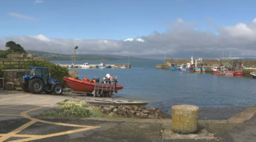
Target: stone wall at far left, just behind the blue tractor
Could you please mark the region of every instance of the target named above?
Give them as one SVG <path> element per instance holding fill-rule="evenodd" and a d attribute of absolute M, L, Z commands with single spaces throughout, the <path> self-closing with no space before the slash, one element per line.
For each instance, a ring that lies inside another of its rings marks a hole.
<path fill-rule="evenodd" d="M 4 90 L 21 89 L 22 76 L 28 74 L 28 70 L 4 70 Z"/>

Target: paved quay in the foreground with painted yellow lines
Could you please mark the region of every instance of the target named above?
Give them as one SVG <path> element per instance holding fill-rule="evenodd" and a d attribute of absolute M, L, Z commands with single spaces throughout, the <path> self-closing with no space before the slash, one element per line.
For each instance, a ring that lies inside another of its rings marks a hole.
<path fill-rule="evenodd" d="M 175 138 L 171 120 L 34 117 L 63 98 L 1 91 L 0 141 L 256 141 L 256 106 L 228 120 L 200 120 L 197 136 Z"/>

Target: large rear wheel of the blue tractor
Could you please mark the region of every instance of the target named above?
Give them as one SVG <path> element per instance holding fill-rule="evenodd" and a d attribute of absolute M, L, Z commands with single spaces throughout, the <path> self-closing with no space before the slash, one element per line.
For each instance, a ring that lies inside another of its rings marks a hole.
<path fill-rule="evenodd" d="M 33 94 L 40 94 L 44 90 L 44 82 L 40 78 L 35 78 L 29 81 L 28 88 Z"/>

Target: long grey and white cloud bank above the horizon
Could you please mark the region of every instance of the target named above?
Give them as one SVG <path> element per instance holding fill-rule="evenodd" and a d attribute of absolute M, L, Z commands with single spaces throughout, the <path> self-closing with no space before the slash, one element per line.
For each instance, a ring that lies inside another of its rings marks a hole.
<path fill-rule="evenodd" d="M 211 23 L 215 22 L 211 19 Z M 154 31 L 147 36 L 125 40 L 62 39 L 45 35 L 12 36 L 0 40 L 0 47 L 4 49 L 5 42 L 13 40 L 25 49 L 63 54 L 73 53 L 74 47 L 79 46 L 79 54 L 133 55 L 164 59 L 162 51 L 166 51 L 166 56 L 173 53 L 175 59 L 189 59 L 191 52 L 195 58 L 215 59 L 219 55 L 222 56 L 222 49 L 219 48 L 222 46 L 225 57 L 229 56 L 230 51 L 233 57 L 255 56 L 255 19 L 249 24 L 237 23 L 234 26 L 217 27 L 218 35 L 211 31 L 194 30 L 199 27 L 195 21 L 177 19 L 170 22 L 170 26 L 171 29 L 163 33 Z"/>

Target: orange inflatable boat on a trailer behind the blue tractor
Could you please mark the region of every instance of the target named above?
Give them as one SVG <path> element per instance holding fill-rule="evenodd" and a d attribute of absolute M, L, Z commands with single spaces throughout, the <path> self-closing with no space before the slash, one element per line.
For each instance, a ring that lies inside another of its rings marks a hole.
<path fill-rule="evenodd" d="M 68 86 L 73 89 L 74 91 L 83 91 L 86 93 L 92 93 L 95 87 L 95 83 L 98 83 L 99 88 L 105 88 L 103 89 L 103 93 L 109 92 L 109 90 L 106 90 L 106 88 L 114 88 L 114 84 L 108 84 L 108 83 L 99 83 L 99 79 L 91 79 L 83 78 L 83 80 L 78 80 L 70 77 L 64 77 L 64 81 L 67 82 Z M 111 93 L 115 91 L 117 93 L 118 90 L 122 90 L 123 85 L 116 85 L 115 90 L 112 89 Z"/>

